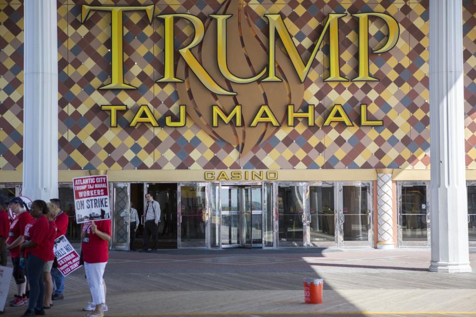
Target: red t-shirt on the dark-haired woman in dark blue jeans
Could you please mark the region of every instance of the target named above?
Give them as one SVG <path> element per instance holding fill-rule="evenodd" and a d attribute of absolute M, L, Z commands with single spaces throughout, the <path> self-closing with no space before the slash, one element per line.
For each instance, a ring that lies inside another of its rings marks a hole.
<path fill-rule="evenodd" d="M 33 248 L 25 249 L 25 257 L 28 254 L 34 255 L 40 258 L 42 261 L 47 262 L 50 258 L 51 251 L 48 249 L 50 243 L 48 242 L 50 225 L 45 215 L 38 218 L 33 218 L 30 223 L 25 227 L 25 241 L 36 242 L 36 246 Z"/>

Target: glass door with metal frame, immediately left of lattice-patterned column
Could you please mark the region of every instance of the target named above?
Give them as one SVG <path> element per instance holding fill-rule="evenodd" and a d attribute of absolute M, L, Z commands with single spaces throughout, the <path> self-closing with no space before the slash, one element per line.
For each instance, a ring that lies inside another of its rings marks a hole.
<path fill-rule="evenodd" d="M 370 183 L 339 183 L 339 247 L 372 246 Z"/>

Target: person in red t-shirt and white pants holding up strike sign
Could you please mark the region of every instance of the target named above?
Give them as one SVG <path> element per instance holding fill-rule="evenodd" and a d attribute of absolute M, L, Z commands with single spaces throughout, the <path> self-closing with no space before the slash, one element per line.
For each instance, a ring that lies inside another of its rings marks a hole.
<path fill-rule="evenodd" d="M 81 251 L 89 290 L 93 299 L 94 311 L 86 317 L 104 316 L 106 304 L 103 275 L 109 259 L 111 240 L 111 220 L 86 222 L 81 230 Z"/>

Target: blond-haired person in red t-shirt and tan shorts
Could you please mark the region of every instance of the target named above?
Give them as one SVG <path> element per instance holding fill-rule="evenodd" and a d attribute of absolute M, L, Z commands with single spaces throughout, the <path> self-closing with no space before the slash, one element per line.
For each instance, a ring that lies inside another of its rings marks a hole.
<path fill-rule="evenodd" d="M 55 260 L 55 254 L 53 253 L 53 246 L 55 244 L 55 239 L 57 235 L 58 229 L 56 228 L 55 224 L 55 217 L 60 211 L 60 208 L 53 203 L 46 204 L 48 207 L 48 213 L 46 218 L 48 219 L 48 262 L 45 263 L 45 267 L 43 269 L 43 283 L 45 284 L 45 299 L 43 300 L 43 308 L 50 309 L 52 302 L 52 295 L 53 295 L 53 280 L 51 278 L 51 267 L 53 266 L 53 261 Z"/>

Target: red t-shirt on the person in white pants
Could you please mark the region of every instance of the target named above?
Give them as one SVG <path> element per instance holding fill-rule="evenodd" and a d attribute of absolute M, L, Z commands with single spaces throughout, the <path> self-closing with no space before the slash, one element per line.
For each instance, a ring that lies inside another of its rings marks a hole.
<path fill-rule="evenodd" d="M 99 231 L 111 235 L 111 220 L 101 220 L 94 222 Z M 91 232 L 91 222 L 84 223 L 81 230 L 86 232 L 86 238 L 81 242 L 83 260 L 87 263 L 103 263 L 109 259 L 109 242 L 101 239 Z"/>

